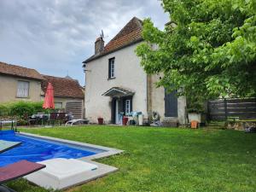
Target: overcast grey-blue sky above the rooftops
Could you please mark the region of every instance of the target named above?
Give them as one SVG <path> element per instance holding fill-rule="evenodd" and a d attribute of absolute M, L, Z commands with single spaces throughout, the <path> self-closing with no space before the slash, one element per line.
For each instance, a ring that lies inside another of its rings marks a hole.
<path fill-rule="evenodd" d="M 94 54 L 101 30 L 105 43 L 133 16 L 168 21 L 158 0 L 0 0 L 0 61 L 31 67 L 84 85 L 82 61 Z"/>

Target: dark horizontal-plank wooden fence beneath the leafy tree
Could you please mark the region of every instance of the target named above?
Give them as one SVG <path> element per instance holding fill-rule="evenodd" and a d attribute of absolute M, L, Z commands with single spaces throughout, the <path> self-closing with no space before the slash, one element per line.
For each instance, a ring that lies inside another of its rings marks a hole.
<path fill-rule="evenodd" d="M 256 119 L 256 98 L 219 99 L 208 102 L 210 120 L 225 120 L 228 117 Z"/>

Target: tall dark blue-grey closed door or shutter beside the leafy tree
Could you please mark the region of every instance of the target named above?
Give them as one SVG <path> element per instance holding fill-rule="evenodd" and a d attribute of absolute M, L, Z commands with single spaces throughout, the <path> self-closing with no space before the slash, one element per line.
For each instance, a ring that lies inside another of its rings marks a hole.
<path fill-rule="evenodd" d="M 174 90 L 171 93 L 165 90 L 165 116 L 177 117 L 177 91 Z"/>

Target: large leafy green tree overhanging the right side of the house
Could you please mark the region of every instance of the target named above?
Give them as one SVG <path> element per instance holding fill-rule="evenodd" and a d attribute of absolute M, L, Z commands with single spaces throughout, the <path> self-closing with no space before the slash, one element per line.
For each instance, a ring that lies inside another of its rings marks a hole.
<path fill-rule="evenodd" d="M 144 70 L 163 75 L 159 86 L 204 99 L 256 95 L 255 0 L 160 2 L 172 21 L 160 31 L 144 20 L 137 47 Z"/>

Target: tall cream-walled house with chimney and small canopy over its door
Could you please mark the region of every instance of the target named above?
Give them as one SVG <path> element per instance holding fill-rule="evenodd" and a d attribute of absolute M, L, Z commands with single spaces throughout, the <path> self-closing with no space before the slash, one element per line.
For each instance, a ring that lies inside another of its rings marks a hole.
<path fill-rule="evenodd" d="M 102 117 L 119 124 L 119 113 L 137 111 L 145 118 L 157 112 L 162 121 L 185 123 L 185 98 L 156 88 L 160 75 L 148 75 L 140 65 L 135 49 L 143 43 L 142 25 L 142 20 L 132 18 L 106 46 L 97 38 L 95 54 L 83 61 L 85 117 L 91 122 Z"/>

